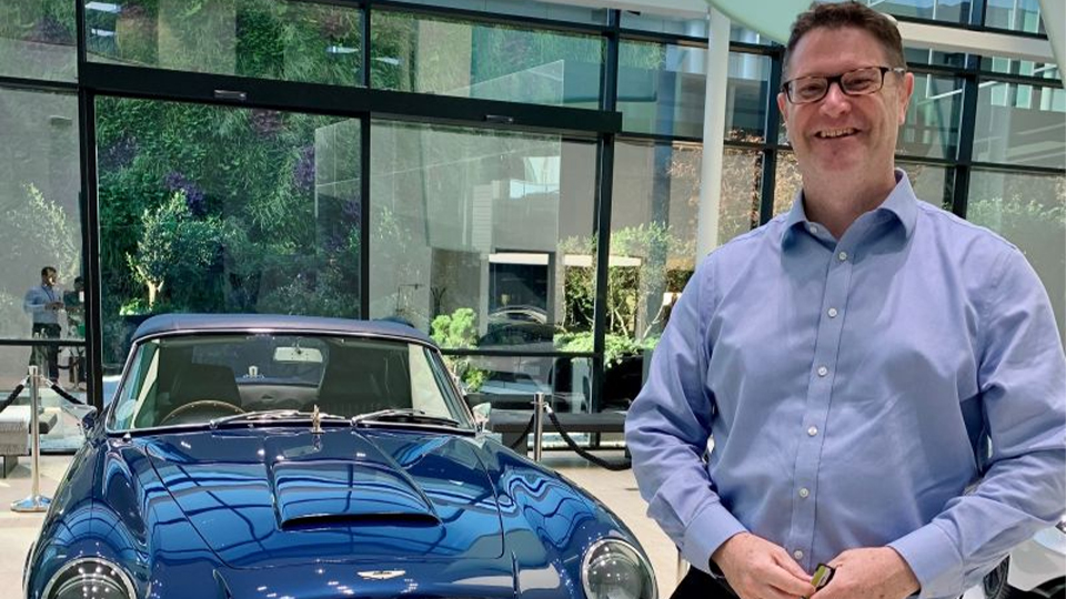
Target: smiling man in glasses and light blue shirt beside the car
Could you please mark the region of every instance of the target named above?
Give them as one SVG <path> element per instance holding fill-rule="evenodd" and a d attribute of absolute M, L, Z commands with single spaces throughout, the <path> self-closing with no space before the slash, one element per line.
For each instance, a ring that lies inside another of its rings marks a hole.
<path fill-rule="evenodd" d="M 700 265 L 626 420 L 694 565 L 674 597 L 955 598 L 1066 506 L 1047 294 L 894 169 L 914 77 L 893 21 L 812 6 L 784 73 L 803 189 Z"/>

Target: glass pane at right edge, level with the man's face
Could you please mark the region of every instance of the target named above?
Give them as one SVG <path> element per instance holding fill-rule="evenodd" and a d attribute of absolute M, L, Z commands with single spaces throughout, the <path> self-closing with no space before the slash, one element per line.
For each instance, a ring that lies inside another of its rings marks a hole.
<path fill-rule="evenodd" d="M 982 81 L 974 125 L 974 160 L 1066 169 L 1066 90 Z"/>

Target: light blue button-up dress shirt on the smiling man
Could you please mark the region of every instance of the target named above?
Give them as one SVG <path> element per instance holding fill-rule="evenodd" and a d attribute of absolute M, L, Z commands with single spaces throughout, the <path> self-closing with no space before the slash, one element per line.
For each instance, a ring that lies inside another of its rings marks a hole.
<path fill-rule="evenodd" d="M 744 530 L 807 572 L 888 545 L 921 597 L 957 597 L 1066 511 L 1066 358 L 1040 281 L 896 179 L 839 241 L 797 199 L 675 306 L 626 444 L 696 567 Z"/>

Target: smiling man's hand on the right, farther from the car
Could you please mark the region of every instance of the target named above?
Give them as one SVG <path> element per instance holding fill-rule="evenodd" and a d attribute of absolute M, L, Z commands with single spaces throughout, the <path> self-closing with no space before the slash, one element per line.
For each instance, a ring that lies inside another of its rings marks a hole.
<path fill-rule="evenodd" d="M 811 599 L 904 599 L 922 588 L 891 547 L 848 549 L 828 565 L 836 569 L 833 580 Z"/>

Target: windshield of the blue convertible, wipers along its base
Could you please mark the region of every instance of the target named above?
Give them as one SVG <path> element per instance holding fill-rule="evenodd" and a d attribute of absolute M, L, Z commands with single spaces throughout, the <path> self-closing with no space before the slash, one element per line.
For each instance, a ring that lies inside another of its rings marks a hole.
<path fill-rule="evenodd" d="M 203 334 L 150 339 L 134 352 L 111 429 L 210 425 L 262 410 L 309 418 L 315 408 L 324 420 L 414 409 L 471 427 L 440 357 L 416 343 Z"/>

